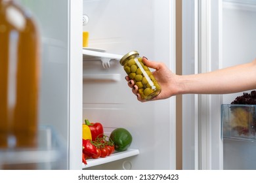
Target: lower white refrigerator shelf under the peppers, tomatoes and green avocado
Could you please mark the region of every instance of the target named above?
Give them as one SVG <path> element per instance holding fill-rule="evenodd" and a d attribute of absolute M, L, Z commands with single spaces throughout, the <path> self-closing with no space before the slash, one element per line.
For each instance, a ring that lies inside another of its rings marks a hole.
<path fill-rule="evenodd" d="M 128 149 L 124 152 L 114 152 L 114 154 L 107 156 L 106 158 L 98 158 L 98 159 L 87 159 L 87 165 L 83 163 L 83 169 L 93 167 L 96 165 L 102 165 L 104 163 L 110 163 L 112 161 L 117 161 L 119 159 L 128 158 L 131 156 L 136 156 L 140 152 L 137 149 Z"/>

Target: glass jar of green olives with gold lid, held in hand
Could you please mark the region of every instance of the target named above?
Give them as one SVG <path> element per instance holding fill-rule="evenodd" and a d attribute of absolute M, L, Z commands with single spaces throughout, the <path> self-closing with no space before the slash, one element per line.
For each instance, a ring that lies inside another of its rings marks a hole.
<path fill-rule="evenodd" d="M 138 86 L 142 99 L 149 101 L 161 92 L 161 87 L 152 75 L 150 69 L 142 62 L 137 51 L 129 52 L 120 59 L 123 69 L 130 79 Z"/>

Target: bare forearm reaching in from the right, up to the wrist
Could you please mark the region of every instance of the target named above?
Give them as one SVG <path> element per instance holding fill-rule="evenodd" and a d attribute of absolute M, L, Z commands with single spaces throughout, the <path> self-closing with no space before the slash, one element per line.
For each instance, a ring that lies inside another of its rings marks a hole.
<path fill-rule="evenodd" d="M 256 60 L 210 73 L 179 76 L 179 94 L 224 94 L 256 89 Z"/>

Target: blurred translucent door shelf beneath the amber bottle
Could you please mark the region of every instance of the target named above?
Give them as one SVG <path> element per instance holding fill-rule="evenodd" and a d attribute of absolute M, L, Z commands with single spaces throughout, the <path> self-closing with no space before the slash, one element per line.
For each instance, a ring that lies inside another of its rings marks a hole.
<path fill-rule="evenodd" d="M 0 148 L 0 169 L 66 169 L 64 139 L 53 127 L 41 125 L 35 148 Z"/>

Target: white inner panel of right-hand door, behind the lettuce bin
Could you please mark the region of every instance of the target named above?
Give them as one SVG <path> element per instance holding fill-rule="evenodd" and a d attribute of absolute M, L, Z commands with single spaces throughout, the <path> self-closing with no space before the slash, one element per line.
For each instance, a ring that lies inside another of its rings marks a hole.
<path fill-rule="evenodd" d="M 255 59 L 255 20 L 256 1 L 223 1 L 223 67 Z M 223 95 L 223 103 L 242 94 Z M 256 169 L 255 150 L 256 142 L 224 140 L 223 169 Z"/>

